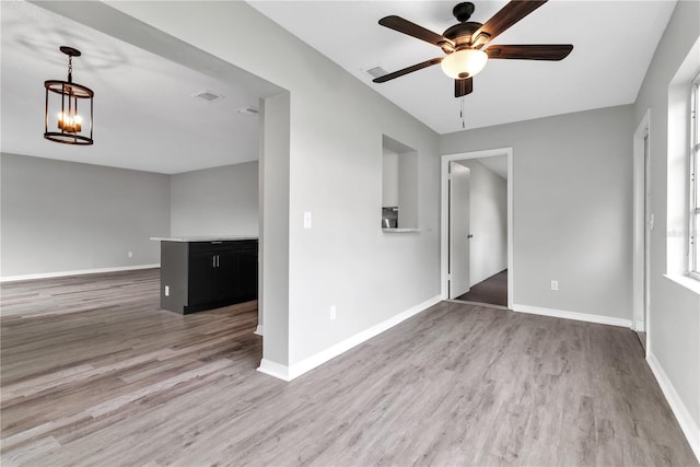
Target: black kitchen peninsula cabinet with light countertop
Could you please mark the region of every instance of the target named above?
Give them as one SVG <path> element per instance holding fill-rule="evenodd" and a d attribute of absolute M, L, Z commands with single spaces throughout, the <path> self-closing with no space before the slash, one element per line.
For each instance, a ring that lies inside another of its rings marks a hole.
<path fill-rule="evenodd" d="M 161 242 L 161 308 L 180 314 L 257 299 L 258 240 L 152 237 Z"/>

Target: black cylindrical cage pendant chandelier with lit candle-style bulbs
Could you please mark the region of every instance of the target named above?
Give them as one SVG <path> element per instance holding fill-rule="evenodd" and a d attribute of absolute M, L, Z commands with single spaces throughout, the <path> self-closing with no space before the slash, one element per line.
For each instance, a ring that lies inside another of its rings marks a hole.
<path fill-rule="evenodd" d="M 81 52 L 62 46 L 60 51 L 68 56 L 68 81 L 47 80 L 46 108 L 44 115 L 44 138 L 65 144 L 89 145 L 92 140 L 92 109 L 94 93 L 82 84 L 73 83 L 73 57 Z M 78 103 L 80 105 L 80 113 Z M 58 131 L 49 131 L 58 129 Z"/>

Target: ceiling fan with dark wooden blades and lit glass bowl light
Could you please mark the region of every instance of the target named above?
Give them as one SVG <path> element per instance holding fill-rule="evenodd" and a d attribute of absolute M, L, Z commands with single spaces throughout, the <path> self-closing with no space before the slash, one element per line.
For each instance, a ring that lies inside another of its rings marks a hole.
<path fill-rule="evenodd" d="M 472 91 L 474 75 L 483 69 L 489 59 L 561 60 L 573 49 L 571 44 L 489 46 L 499 34 L 546 2 L 547 0 L 513 0 L 483 24 L 469 21 L 474 3 L 458 3 L 452 13 L 459 23 L 448 27 L 442 35 L 396 15 L 383 17 L 380 20 L 382 26 L 433 44 L 446 55 L 384 74 L 373 82 L 385 83 L 440 63 L 445 74 L 455 80 L 455 97 L 462 97 Z"/>

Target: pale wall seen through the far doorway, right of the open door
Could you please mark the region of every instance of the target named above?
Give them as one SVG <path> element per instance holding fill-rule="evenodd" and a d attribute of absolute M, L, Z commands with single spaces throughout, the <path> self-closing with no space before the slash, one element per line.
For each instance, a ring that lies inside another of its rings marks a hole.
<path fill-rule="evenodd" d="M 469 168 L 469 287 L 508 268 L 508 184 L 479 161 Z"/>

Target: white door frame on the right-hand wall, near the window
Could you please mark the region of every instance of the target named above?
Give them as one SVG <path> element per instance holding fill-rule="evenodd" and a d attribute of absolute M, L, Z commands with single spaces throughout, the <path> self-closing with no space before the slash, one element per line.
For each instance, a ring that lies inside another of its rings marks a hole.
<path fill-rule="evenodd" d="M 633 174 L 633 250 L 632 250 L 632 329 L 646 332 L 646 349 L 649 351 L 649 225 L 645 213 L 645 197 L 649 167 L 644 157 L 644 138 L 651 147 L 650 110 L 648 109 L 640 121 L 632 140 L 632 174 Z M 651 159 L 651 157 L 650 157 Z M 646 260 L 644 259 L 646 258 Z"/>

